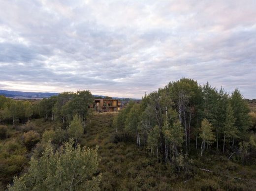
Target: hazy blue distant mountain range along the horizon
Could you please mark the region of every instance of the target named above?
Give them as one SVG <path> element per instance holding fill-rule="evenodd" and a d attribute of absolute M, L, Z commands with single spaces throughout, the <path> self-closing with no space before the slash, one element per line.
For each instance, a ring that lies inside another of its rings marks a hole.
<path fill-rule="evenodd" d="M 51 96 L 57 96 L 59 93 L 49 93 L 49 92 L 24 92 L 24 91 L 7 91 L 0 90 L 0 95 L 5 97 L 13 98 L 13 99 L 43 99 L 49 98 Z M 93 95 L 94 97 L 106 97 L 102 95 Z M 113 99 L 130 99 L 130 98 L 119 98 L 113 97 Z M 132 100 L 141 100 L 141 99 L 132 99 Z"/>

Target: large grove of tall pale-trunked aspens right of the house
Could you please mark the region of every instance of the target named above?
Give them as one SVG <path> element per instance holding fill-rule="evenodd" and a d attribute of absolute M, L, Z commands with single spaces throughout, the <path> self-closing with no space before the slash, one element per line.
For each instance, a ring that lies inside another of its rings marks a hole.
<path fill-rule="evenodd" d="M 160 161 L 200 149 L 240 154 L 243 162 L 255 154 L 256 132 L 248 103 L 238 89 L 231 95 L 207 82 L 183 78 L 130 102 L 114 119 L 117 138 L 136 141 Z"/>

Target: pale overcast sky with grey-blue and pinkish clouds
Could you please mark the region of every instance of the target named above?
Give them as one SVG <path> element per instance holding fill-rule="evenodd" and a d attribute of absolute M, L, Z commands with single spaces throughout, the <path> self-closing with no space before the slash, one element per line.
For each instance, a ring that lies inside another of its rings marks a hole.
<path fill-rule="evenodd" d="M 182 77 L 256 98 L 256 0 L 0 0 L 0 89 L 141 98 Z"/>

